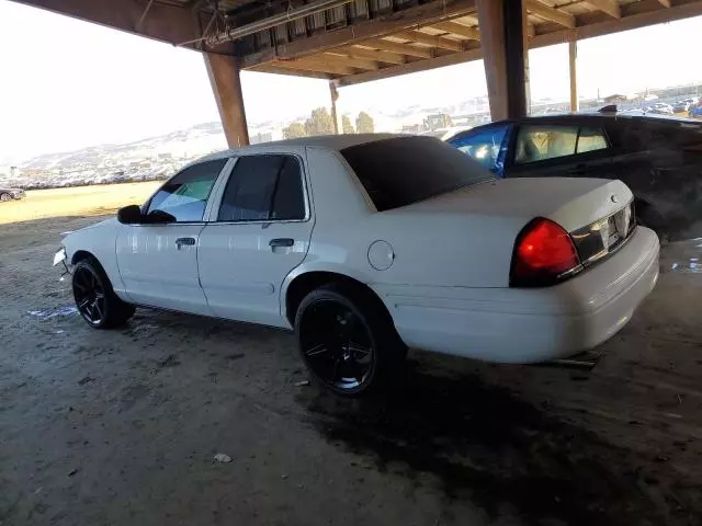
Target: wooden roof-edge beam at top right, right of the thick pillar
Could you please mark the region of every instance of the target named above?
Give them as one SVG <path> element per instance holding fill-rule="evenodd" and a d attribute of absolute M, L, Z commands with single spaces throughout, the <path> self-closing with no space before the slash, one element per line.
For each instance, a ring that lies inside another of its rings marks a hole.
<path fill-rule="evenodd" d="M 622 5 L 622 18 L 619 20 L 603 13 L 582 15 L 582 24 L 577 28 L 579 41 L 609 35 L 621 31 L 637 30 L 648 25 L 672 22 L 702 15 L 702 1 L 677 0 L 670 9 L 661 9 L 658 0 L 642 0 L 641 2 Z M 531 48 L 566 44 L 573 34 L 571 30 L 554 31 L 536 35 L 531 41 Z"/>

